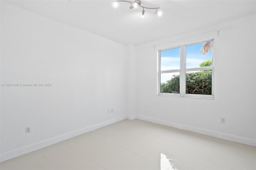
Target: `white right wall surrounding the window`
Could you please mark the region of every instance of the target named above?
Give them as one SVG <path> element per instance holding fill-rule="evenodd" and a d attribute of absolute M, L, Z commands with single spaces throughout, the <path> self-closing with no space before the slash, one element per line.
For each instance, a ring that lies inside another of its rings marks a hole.
<path fill-rule="evenodd" d="M 220 31 L 220 36 L 216 31 L 209 32 L 228 26 L 234 28 Z M 135 47 L 134 115 L 256 146 L 255 30 L 255 15 L 251 15 Z M 209 33 L 198 35 L 204 32 Z M 215 99 L 157 96 L 157 50 L 150 46 L 164 49 L 210 38 L 215 38 Z M 226 124 L 220 124 L 220 117 L 226 118 Z"/>

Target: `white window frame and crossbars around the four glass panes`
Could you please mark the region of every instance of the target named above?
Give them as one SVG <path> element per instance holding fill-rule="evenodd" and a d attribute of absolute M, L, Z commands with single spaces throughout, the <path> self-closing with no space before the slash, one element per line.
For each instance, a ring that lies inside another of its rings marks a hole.
<path fill-rule="evenodd" d="M 212 66 L 209 67 L 195 67 L 195 68 L 186 68 L 186 46 L 193 45 L 197 43 L 209 42 L 212 41 Z M 164 70 L 161 71 L 161 51 L 174 49 L 180 47 L 180 69 Z M 214 38 L 208 40 L 201 40 L 198 42 L 186 43 L 183 45 L 178 45 L 170 48 L 160 49 L 157 52 L 158 58 L 158 73 L 157 73 L 157 95 L 159 96 L 173 96 L 173 97 L 192 97 L 192 98 L 205 98 L 205 99 L 214 99 Z M 201 70 L 212 70 L 212 95 L 198 95 L 198 94 L 186 94 L 186 71 L 201 71 Z M 180 73 L 180 93 L 161 93 L 161 73 Z"/>

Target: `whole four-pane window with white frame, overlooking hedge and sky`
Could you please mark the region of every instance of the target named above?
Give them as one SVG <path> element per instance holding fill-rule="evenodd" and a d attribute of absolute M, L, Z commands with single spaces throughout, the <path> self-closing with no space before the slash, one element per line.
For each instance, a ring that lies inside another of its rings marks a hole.
<path fill-rule="evenodd" d="M 214 40 L 158 51 L 158 95 L 214 98 Z"/>

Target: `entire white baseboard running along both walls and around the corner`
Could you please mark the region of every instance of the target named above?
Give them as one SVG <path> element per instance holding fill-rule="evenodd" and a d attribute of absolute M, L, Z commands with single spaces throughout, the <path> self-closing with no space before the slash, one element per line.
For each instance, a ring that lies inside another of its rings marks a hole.
<path fill-rule="evenodd" d="M 42 141 L 42 142 L 39 142 L 39 143 L 36 143 L 36 144 L 32 144 L 30 146 L 19 148 L 17 150 L 12 151 L 12 152 L 2 154 L 2 155 L 0 155 L 0 162 L 3 162 L 5 160 L 9 160 L 9 159 L 21 156 L 23 154 L 27 154 L 29 152 L 33 152 L 35 150 L 50 146 L 52 144 L 56 144 L 58 142 L 62 142 L 62 141 L 67 140 L 69 138 L 73 138 L 73 137 L 76 137 L 80 134 L 84 134 L 86 132 L 90 132 L 92 130 L 96 130 L 98 128 L 105 127 L 107 125 L 122 121 L 124 119 L 128 119 L 128 120 L 140 119 L 140 120 L 144 120 L 144 121 L 148 121 L 148 122 L 152 122 L 152 123 L 157 123 L 157 124 L 160 124 L 160 125 L 166 125 L 168 127 L 179 128 L 179 129 L 182 129 L 182 130 L 188 130 L 190 132 L 196 132 L 196 133 L 199 133 L 199 134 L 213 136 L 213 137 L 216 137 L 216 138 L 230 140 L 230 141 L 233 141 L 233 142 L 247 144 L 247 145 L 250 145 L 250 146 L 256 146 L 256 140 L 250 139 L 250 138 L 244 138 L 244 137 L 240 137 L 240 136 L 224 134 L 224 133 L 215 132 L 215 131 L 211 131 L 211 130 L 206 130 L 206 129 L 202 129 L 202 128 L 190 127 L 190 126 L 187 126 L 187 125 L 181 125 L 181 124 L 178 124 L 178 123 L 172 123 L 172 122 L 163 121 L 163 120 L 160 120 L 160 119 L 154 119 L 154 118 L 150 118 L 150 117 L 144 117 L 144 116 L 140 116 L 140 115 L 132 115 L 132 116 L 129 115 L 129 116 L 122 116 L 122 117 L 118 117 L 118 118 L 115 118 L 115 119 L 111 119 L 109 121 L 105 121 L 105 122 L 102 122 L 102 123 L 99 123 L 99 124 L 96 124 L 96 125 L 92 125 L 90 127 L 82 128 L 82 129 L 76 130 L 74 132 L 63 134 L 63 135 L 57 136 L 55 138 L 50 138 L 48 140 L 45 140 L 45 141 Z"/>

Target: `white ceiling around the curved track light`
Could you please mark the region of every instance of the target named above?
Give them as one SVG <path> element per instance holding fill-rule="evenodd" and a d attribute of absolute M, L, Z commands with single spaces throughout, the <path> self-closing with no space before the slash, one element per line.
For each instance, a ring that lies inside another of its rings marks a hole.
<path fill-rule="evenodd" d="M 256 0 L 142 0 L 155 10 L 131 10 L 130 4 L 113 0 L 7 0 L 38 14 L 81 28 L 122 44 L 141 44 L 177 32 L 256 12 Z"/>

